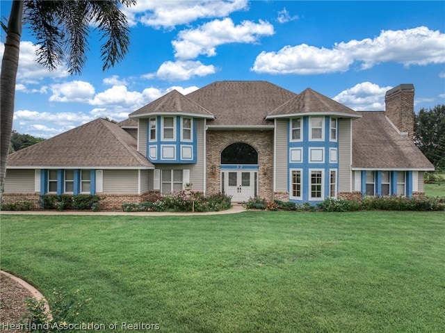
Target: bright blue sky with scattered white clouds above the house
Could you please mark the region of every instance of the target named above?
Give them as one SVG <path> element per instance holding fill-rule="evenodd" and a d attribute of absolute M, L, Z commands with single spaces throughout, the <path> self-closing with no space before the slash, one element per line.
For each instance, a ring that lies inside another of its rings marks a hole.
<path fill-rule="evenodd" d="M 0 5 L 8 17 L 10 1 Z M 415 111 L 445 104 L 445 1 L 138 0 L 125 13 L 129 54 L 107 72 L 95 33 L 82 74 L 69 76 L 35 63 L 24 30 L 15 130 L 50 138 L 221 80 L 312 88 L 357 111 L 383 110 L 389 88 L 413 83 Z"/>

